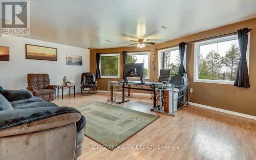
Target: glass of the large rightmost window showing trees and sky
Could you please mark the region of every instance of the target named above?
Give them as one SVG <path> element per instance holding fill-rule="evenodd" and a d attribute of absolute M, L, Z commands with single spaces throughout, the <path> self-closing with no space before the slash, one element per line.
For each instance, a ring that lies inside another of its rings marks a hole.
<path fill-rule="evenodd" d="M 200 46 L 199 54 L 199 79 L 234 81 L 240 59 L 238 40 Z"/>

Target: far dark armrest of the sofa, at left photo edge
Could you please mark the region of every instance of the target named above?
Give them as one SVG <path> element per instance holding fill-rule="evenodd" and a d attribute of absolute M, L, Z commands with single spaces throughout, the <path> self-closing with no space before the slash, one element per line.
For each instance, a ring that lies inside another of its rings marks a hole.
<path fill-rule="evenodd" d="M 0 91 L 0 94 L 2 94 L 9 102 L 28 99 L 33 97 L 32 93 L 26 89 L 22 89 L 22 90 L 4 89 Z"/>

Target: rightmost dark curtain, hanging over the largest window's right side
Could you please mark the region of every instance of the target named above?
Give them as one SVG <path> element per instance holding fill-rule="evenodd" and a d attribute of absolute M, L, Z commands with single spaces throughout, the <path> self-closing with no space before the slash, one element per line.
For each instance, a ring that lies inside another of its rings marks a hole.
<path fill-rule="evenodd" d="M 234 86 L 250 87 L 248 66 L 246 62 L 246 50 L 248 44 L 248 28 L 238 30 L 238 44 L 240 48 L 241 58 L 238 63 L 237 77 Z"/>

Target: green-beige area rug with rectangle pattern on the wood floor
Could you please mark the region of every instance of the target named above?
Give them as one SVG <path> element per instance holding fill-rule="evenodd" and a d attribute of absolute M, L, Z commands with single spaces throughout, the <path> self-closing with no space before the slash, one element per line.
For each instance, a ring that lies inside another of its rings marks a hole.
<path fill-rule="evenodd" d="M 160 117 L 102 102 L 76 109 L 86 117 L 84 134 L 110 150 Z"/>

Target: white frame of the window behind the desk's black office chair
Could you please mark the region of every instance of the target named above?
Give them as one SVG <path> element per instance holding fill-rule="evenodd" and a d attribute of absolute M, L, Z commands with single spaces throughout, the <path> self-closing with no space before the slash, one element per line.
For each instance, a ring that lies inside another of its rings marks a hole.
<path fill-rule="evenodd" d="M 172 47 L 172 48 L 158 50 L 158 77 L 160 76 L 160 70 L 162 69 L 163 52 L 176 51 L 176 50 L 179 50 L 179 45 L 176 47 Z M 186 71 L 186 58 L 187 58 L 187 45 L 185 45 L 184 61 L 183 61 L 185 71 Z"/>

